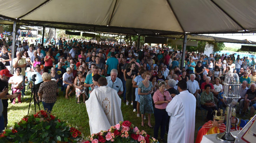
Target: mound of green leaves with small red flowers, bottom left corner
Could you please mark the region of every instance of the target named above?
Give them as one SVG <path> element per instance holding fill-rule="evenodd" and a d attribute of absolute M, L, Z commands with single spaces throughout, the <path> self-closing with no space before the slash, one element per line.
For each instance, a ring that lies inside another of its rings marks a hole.
<path fill-rule="evenodd" d="M 36 114 L 24 116 L 14 124 L 13 129 L 6 129 L 0 134 L 0 142 L 13 143 L 57 143 L 57 142 L 82 142 L 83 134 L 58 117 L 40 110 Z"/>

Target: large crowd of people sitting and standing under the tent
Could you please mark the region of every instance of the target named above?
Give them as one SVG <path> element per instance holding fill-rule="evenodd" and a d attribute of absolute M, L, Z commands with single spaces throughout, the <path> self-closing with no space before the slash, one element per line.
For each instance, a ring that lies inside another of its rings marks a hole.
<path fill-rule="evenodd" d="M 207 122 L 219 121 L 218 117 L 222 116 L 219 112 L 226 108 L 220 96 L 223 93 L 224 77 L 227 73 L 237 73 L 242 83 L 237 114 L 245 116 L 249 106 L 250 117 L 255 114 L 256 70 L 253 58 L 239 55 L 235 58 L 234 54 L 210 54 L 208 57 L 202 53 L 185 51 L 185 64 L 181 66 L 182 51 L 168 47 L 144 45 L 139 49 L 111 41 L 65 38 L 53 39 L 47 45 L 40 44 L 39 41 L 36 39 L 28 46 L 28 42 L 24 40 L 12 49 L 11 43 L 0 39 L 0 57 L 7 69 L 10 70 L 11 65 L 15 69 L 14 78 L 9 80 L 14 88 L 13 93 L 19 93 L 17 91 L 23 88 L 24 82 L 30 82 L 32 75 L 37 75 L 36 93 L 49 111 L 57 100 L 58 86 L 66 99 L 74 93 L 77 103 L 81 104 L 90 99 L 93 90 L 100 87 L 98 82 L 101 77 L 105 77 L 106 86 L 115 89 L 126 106 L 132 106 L 137 117 L 141 117 L 141 126 L 144 126 L 144 120 L 148 120 L 147 126 L 154 128 L 154 137 L 158 138 L 160 128 L 160 139 L 166 142 L 164 134 L 175 126 L 175 121 L 170 122 L 170 118 L 179 114 L 177 110 L 194 106 L 194 110 L 196 107 L 203 108 L 208 111 Z M 11 57 L 11 50 L 16 52 L 14 59 Z M 23 90 L 18 95 L 19 103 L 21 94 L 24 94 Z M 193 98 L 188 101 L 190 97 Z M 177 108 L 182 101 L 186 106 Z M 15 104 L 16 101 L 12 100 L 12 103 Z M 192 109 L 179 112 L 193 112 L 190 110 Z M 155 118 L 154 127 L 151 124 L 151 114 Z M 168 133 L 168 139 L 175 134 L 174 131 L 171 131 L 172 135 Z"/>

